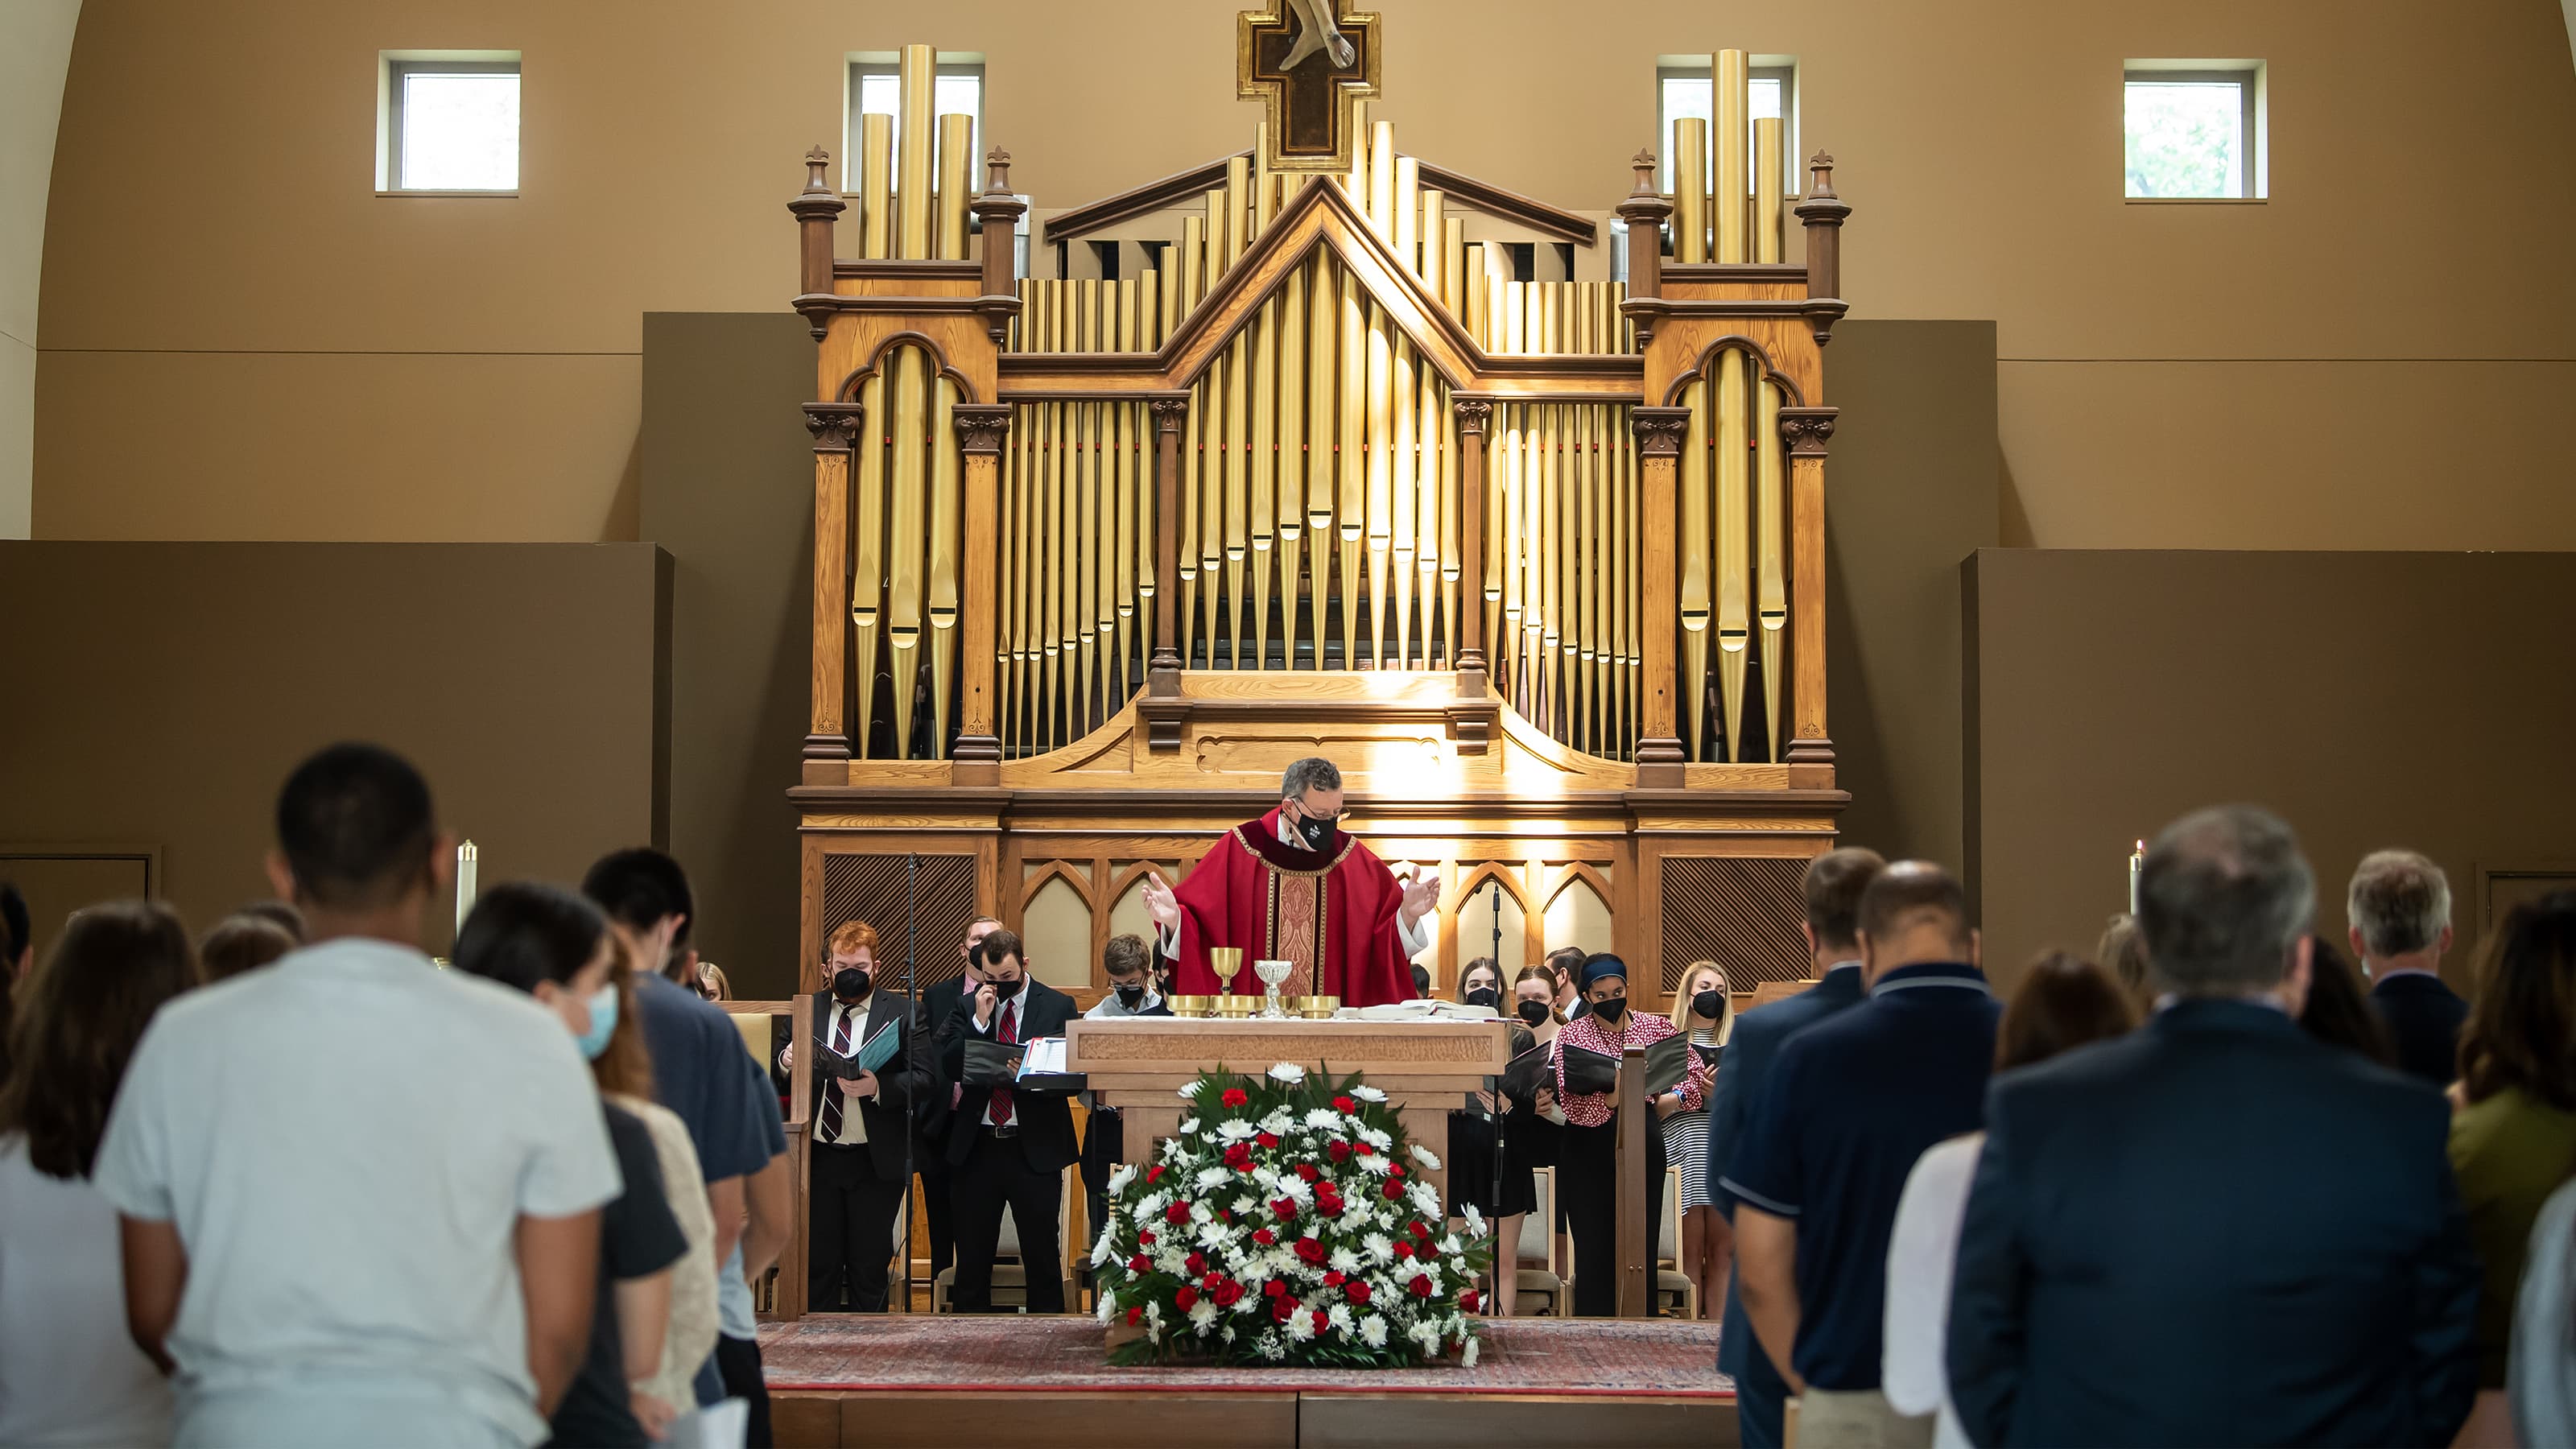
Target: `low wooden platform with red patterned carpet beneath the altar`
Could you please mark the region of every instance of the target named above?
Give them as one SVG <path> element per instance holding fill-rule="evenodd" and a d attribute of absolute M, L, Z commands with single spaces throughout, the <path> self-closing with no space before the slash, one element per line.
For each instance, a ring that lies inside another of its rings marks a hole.
<path fill-rule="evenodd" d="M 1736 1444 L 1718 1325 L 1486 1320 L 1473 1369 L 1113 1369 L 1090 1318 L 817 1315 L 760 1328 L 781 1449 Z"/>

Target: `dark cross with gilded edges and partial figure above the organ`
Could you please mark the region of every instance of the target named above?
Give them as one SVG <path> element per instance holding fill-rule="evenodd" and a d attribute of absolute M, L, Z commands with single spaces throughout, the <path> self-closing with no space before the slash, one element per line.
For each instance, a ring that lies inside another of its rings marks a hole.
<path fill-rule="evenodd" d="M 1350 170 L 1360 101 L 1378 93 L 1378 15 L 1280 0 L 1234 18 L 1234 93 L 1270 108 L 1270 170 Z"/>

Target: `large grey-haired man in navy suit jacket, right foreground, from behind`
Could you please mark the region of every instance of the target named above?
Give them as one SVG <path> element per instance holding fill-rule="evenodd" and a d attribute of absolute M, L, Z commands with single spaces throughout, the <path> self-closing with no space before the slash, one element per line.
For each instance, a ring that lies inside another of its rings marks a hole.
<path fill-rule="evenodd" d="M 2141 879 L 2177 993 L 1996 1078 L 1950 1400 L 2007 1444 L 2450 1444 L 2478 1390 L 2439 1093 L 2308 1039 L 2316 879 L 2277 817 L 2190 815 Z"/>

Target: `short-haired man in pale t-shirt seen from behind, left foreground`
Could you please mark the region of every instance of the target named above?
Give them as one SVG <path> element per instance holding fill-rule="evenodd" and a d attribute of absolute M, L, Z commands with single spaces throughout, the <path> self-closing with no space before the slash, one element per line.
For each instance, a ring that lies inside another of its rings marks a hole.
<path fill-rule="evenodd" d="M 268 859 L 314 944 L 134 1052 L 95 1183 L 178 1444 L 536 1444 L 582 1364 L 598 1088 L 551 1013 L 412 944 L 443 864 L 407 761 L 322 750 Z"/>

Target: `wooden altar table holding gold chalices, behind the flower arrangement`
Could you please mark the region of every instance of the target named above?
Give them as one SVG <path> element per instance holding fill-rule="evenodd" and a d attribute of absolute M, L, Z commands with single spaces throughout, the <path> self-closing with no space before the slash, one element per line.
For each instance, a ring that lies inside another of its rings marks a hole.
<path fill-rule="evenodd" d="M 1123 1160 L 1149 1163 L 1154 1142 L 1180 1132 L 1185 1083 L 1211 1070 L 1260 1075 L 1278 1062 L 1327 1075 L 1360 1073 L 1386 1093 L 1404 1132 L 1440 1158 L 1432 1183 L 1448 1196 L 1448 1114 L 1512 1060 L 1497 1021 L 1260 1021 L 1115 1016 L 1072 1021 L 1066 1067 L 1090 1078 L 1092 1101 L 1118 1109 Z"/>

